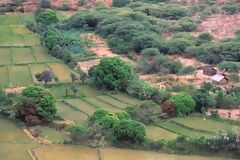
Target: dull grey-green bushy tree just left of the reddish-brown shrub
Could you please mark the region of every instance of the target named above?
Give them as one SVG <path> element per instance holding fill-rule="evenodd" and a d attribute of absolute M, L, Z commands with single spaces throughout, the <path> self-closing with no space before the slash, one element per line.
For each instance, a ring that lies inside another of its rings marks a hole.
<path fill-rule="evenodd" d="M 153 101 L 143 101 L 136 106 L 127 107 L 126 111 L 131 115 L 132 119 L 144 124 L 152 124 L 154 116 L 161 113 L 161 107 Z"/>

